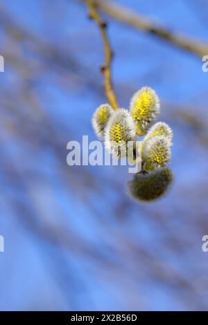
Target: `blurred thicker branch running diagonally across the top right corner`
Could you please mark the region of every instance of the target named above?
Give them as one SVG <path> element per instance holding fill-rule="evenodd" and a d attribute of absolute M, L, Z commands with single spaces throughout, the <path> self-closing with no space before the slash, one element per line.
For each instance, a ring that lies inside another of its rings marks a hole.
<path fill-rule="evenodd" d="M 164 41 L 174 44 L 178 48 L 187 50 L 198 57 L 208 54 L 208 44 L 202 44 L 201 41 L 191 39 L 188 36 L 171 32 L 167 28 L 163 28 L 149 21 L 146 17 L 133 12 L 132 10 L 112 3 L 112 1 L 94 0 L 97 8 L 101 9 L 110 17 L 128 24 L 139 30 L 143 30 L 151 35 L 155 35 Z"/>

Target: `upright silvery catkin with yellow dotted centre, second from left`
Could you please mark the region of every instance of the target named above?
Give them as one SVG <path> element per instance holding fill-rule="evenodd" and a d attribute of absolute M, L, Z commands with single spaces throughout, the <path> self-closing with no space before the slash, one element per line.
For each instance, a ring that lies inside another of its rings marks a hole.
<path fill-rule="evenodd" d="M 126 109 L 118 109 L 108 120 L 105 133 L 105 148 L 117 158 L 126 156 L 128 141 L 136 140 L 135 123 Z"/>

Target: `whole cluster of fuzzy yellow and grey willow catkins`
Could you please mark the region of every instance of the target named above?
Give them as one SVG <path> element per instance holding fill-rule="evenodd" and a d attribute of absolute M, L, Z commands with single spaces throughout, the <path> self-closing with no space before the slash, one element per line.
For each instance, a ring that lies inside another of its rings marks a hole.
<path fill-rule="evenodd" d="M 171 169 L 166 166 L 171 160 L 173 132 L 164 122 L 153 124 L 160 111 L 159 97 L 149 87 L 143 87 L 132 96 L 130 108 L 112 109 L 103 104 L 96 109 L 92 125 L 105 148 L 117 158 L 126 156 L 118 151 L 118 145 L 136 141 L 144 136 L 141 144 L 141 171 L 128 183 L 128 189 L 139 201 L 152 201 L 164 194 L 173 179 Z M 136 161 L 135 161 L 136 163 Z"/>

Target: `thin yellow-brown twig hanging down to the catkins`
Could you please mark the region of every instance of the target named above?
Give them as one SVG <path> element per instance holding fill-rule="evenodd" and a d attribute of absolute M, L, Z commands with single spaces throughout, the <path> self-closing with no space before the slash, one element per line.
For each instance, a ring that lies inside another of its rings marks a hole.
<path fill-rule="evenodd" d="M 116 95 L 112 86 L 112 75 L 111 75 L 111 63 L 112 63 L 112 50 L 110 47 L 110 41 L 107 37 L 106 23 L 103 21 L 101 16 L 96 10 L 96 6 L 93 0 L 86 0 L 87 6 L 89 7 L 89 17 L 94 19 L 101 29 L 101 35 L 103 39 L 103 46 L 105 51 L 105 63 L 101 66 L 101 72 L 104 75 L 104 89 L 107 100 L 111 104 L 113 109 L 118 108 Z"/>

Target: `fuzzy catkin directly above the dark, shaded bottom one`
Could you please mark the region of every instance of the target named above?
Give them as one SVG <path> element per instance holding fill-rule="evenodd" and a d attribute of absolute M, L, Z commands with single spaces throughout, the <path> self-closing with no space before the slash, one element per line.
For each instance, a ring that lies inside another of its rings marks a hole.
<path fill-rule="evenodd" d="M 154 171 L 168 165 L 171 160 L 171 141 L 165 136 L 155 136 L 144 142 L 142 148 L 144 170 Z"/>

